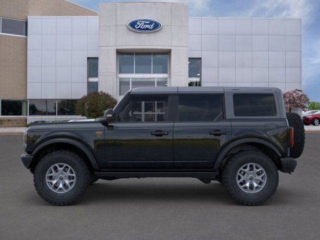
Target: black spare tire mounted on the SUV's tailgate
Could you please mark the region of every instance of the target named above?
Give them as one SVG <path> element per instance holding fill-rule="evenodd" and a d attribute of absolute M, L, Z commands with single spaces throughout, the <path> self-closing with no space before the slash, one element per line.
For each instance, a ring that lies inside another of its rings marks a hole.
<path fill-rule="evenodd" d="M 301 116 L 295 112 L 287 112 L 286 119 L 288 120 L 289 126 L 294 128 L 293 131 L 293 147 L 290 148 L 290 156 L 298 158 L 304 148 L 304 125 Z"/>

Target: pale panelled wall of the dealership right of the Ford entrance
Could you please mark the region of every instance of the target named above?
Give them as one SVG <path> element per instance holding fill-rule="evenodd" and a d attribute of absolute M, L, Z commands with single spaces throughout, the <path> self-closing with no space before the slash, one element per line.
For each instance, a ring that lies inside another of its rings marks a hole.
<path fill-rule="evenodd" d="M 203 86 L 302 88 L 300 18 L 189 17 Z"/>

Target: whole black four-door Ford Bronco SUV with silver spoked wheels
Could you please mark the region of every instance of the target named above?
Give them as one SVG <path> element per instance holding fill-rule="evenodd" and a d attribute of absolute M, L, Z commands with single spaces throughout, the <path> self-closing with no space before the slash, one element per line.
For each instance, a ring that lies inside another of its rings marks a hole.
<path fill-rule="evenodd" d="M 236 201 L 258 205 L 275 192 L 278 170 L 294 171 L 303 146 L 301 117 L 285 113 L 278 88 L 137 87 L 102 118 L 32 124 L 21 160 L 54 205 L 97 179 L 129 177 L 217 180 Z"/>

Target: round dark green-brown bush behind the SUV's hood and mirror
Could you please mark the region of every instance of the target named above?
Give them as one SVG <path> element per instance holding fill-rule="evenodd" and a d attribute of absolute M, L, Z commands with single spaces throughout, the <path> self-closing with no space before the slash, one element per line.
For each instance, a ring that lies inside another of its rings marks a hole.
<path fill-rule="evenodd" d="M 109 93 L 103 91 L 92 91 L 77 100 L 75 112 L 88 118 L 103 116 L 103 111 L 113 108 L 116 99 Z"/>

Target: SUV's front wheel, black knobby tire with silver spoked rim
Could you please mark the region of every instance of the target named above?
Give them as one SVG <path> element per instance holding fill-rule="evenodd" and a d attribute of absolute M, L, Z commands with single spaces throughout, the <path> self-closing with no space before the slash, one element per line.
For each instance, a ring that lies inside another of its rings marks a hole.
<path fill-rule="evenodd" d="M 72 151 L 58 150 L 45 155 L 36 165 L 33 183 L 38 194 L 53 205 L 77 200 L 90 183 L 84 159 Z"/>

